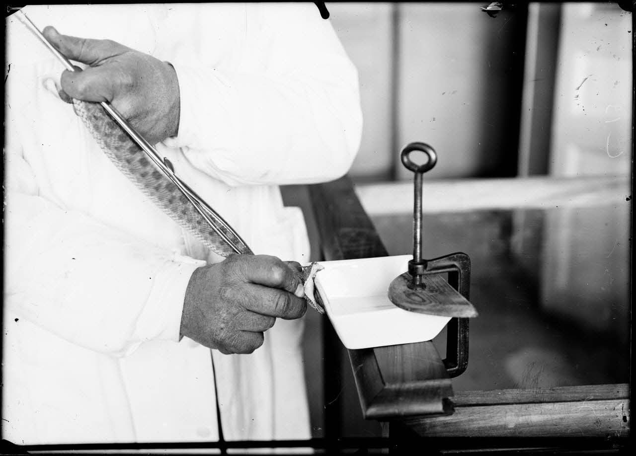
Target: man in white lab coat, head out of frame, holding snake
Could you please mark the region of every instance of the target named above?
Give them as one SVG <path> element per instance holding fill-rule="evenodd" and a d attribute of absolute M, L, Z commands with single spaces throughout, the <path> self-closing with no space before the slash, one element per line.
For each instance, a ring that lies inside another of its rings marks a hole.
<path fill-rule="evenodd" d="M 280 261 L 309 246 L 278 186 L 342 176 L 359 146 L 329 21 L 310 3 L 24 11 L 84 71 L 7 18 L 3 438 L 215 441 L 216 397 L 226 439 L 310 438 Z M 257 256 L 223 261 L 151 204 L 60 88 L 111 102 Z"/>

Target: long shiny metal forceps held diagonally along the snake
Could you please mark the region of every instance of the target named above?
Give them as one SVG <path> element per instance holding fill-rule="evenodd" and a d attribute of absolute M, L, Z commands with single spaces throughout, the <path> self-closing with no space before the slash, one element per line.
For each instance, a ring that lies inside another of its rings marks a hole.
<path fill-rule="evenodd" d="M 67 70 L 75 71 L 75 68 L 73 67 L 73 64 L 71 64 L 69 59 L 64 57 L 62 53 L 60 53 L 53 47 L 53 45 L 51 45 L 51 43 L 48 42 L 42 32 L 39 31 L 38 27 L 36 27 L 36 25 L 31 22 L 31 19 L 29 19 L 29 17 L 27 17 L 27 15 L 22 10 L 17 11 L 15 15 L 20 20 L 20 22 L 22 22 L 22 24 L 24 24 L 27 29 L 35 34 L 39 41 L 41 41 L 46 46 L 46 48 L 48 48 L 48 50 L 50 50 L 50 52 L 52 52 L 53 55 L 55 55 L 55 57 L 57 57 L 57 59 L 62 62 Z M 111 106 L 106 101 L 102 101 L 100 102 L 100 104 L 106 110 L 106 113 L 108 113 L 109 116 L 111 116 L 111 118 L 113 118 L 113 120 L 116 121 L 118 125 L 120 125 L 120 127 L 123 128 L 123 130 L 130 136 L 130 138 L 142 149 L 142 151 L 146 153 L 148 158 L 150 158 L 150 160 L 155 163 L 155 165 L 160 170 L 162 170 L 163 173 L 170 179 L 170 181 L 172 181 L 172 183 L 177 186 L 179 191 L 181 191 L 181 193 L 183 193 L 183 195 L 188 198 L 188 201 L 190 201 L 195 209 L 197 209 L 199 214 L 201 214 L 208 225 L 210 225 L 212 230 L 216 231 L 216 233 L 221 238 L 223 238 L 223 240 L 228 245 L 230 245 L 230 247 L 232 247 L 233 251 L 240 254 L 253 254 L 245 241 L 235 230 L 233 230 L 232 226 L 230 226 L 230 224 L 227 223 L 216 211 L 214 211 L 212 207 L 210 207 L 201 197 L 199 197 L 197 193 L 195 193 L 195 191 L 193 191 L 186 183 L 181 181 L 181 179 L 176 176 L 174 167 L 172 166 L 172 163 L 170 163 L 170 160 L 165 157 L 163 159 L 160 158 L 160 155 L 158 154 L 156 149 L 148 141 L 146 141 L 144 137 L 137 133 L 137 131 L 135 131 L 135 129 L 128 123 L 128 121 L 126 121 L 123 116 L 121 116 L 121 114 L 118 113 L 116 109 L 114 109 L 113 106 Z"/>

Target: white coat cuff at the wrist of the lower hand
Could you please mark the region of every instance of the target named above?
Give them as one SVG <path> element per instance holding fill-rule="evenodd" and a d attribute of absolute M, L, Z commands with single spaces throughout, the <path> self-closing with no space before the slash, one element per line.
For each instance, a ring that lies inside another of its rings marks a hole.
<path fill-rule="evenodd" d="M 179 342 L 183 302 L 190 277 L 195 269 L 205 266 L 205 261 L 176 255 L 155 273 L 153 287 L 146 307 L 137 320 L 132 344 L 127 354 L 148 340 L 161 339 Z"/>

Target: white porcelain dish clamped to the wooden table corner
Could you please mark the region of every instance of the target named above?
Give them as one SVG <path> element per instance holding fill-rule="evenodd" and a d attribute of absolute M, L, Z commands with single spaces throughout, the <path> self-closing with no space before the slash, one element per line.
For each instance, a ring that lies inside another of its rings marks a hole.
<path fill-rule="evenodd" d="M 411 255 L 321 261 L 315 287 L 347 349 L 431 340 L 450 317 L 425 315 L 389 301 L 389 284 L 406 272 Z"/>

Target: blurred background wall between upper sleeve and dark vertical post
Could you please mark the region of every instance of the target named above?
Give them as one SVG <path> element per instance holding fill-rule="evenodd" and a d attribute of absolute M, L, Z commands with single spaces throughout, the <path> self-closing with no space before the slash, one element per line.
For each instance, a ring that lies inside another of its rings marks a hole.
<path fill-rule="evenodd" d="M 525 6 L 492 18 L 480 3 L 327 3 L 359 71 L 363 141 L 350 175 L 399 178 L 399 151 L 431 144 L 427 177 L 514 176 Z"/>

